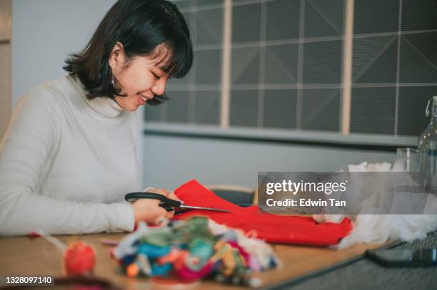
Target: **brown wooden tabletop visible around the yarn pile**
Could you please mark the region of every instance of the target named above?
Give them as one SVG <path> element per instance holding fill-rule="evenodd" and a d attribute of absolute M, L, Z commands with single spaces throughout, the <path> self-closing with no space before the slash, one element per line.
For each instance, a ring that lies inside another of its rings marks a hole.
<path fill-rule="evenodd" d="M 80 236 L 57 236 L 68 243 L 81 239 L 90 244 L 96 251 L 96 266 L 94 274 L 108 279 L 124 289 L 156 289 L 150 279 L 129 279 L 120 274 L 117 261 L 110 257 L 111 247 L 101 244 L 101 239 L 122 239 L 126 234 L 86 234 Z M 356 257 L 366 249 L 378 245 L 357 245 L 349 249 L 334 250 L 318 247 L 302 247 L 292 245 L 273 245 L 276 254 L 283 262 L 279 269 L 260 274 L 262 286 L 278 284 L 308 274 L 327 266 Z M 62 254 L 53 244 L 45 239 L 29 237 L 0 238 L 0 276 L 16 275 L 49 275 L 64 276 Z M 244 289 L 243 287 L 218 284 L 214 281 L 202 281 L 194 284 L 191 289 Z"/>

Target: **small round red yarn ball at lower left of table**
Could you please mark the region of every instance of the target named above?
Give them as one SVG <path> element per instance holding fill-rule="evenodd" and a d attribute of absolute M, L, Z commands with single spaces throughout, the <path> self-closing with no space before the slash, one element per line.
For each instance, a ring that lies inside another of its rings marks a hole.
<path fill-rule="evenodd" d="M 67 276 L 79 276 L 92 271 L 96 264 L 93 248 L 84 242 L 72 242 L 64 252 L 64 266 Z"/>

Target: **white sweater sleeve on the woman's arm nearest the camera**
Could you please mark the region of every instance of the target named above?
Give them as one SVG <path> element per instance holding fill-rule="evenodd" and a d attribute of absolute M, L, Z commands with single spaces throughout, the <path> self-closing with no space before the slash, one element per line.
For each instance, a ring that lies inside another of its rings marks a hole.
<path fill-rule="evenodd" d="M 134 213 L 124 202 L 77 202 L 41 194 L 41 180 L 59 149 L 58 98 L 39 90 L 17 105 L 0 144 L 0 234 L 131 231 Z M 80 180 L 78 180 L 80 182 Z"/>

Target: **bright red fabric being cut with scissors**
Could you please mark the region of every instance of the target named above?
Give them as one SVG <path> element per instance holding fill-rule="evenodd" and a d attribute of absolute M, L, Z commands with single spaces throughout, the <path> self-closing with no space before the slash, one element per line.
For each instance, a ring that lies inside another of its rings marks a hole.
<path fill-rule="evenodd" d="M 243 229 L 245 232 L 255 230 L 256 237 L 265 239 L 266 242 L 328 246 L 338 244 L 353 227 L 348 218 L 343 219 L 339 224 L 331 222 L 317 224 L 312 217 L 268 214 L 256 205 L 238 207 L 236 204 L 221 199 L 196 180 L 181 185 L 175 190 L 175 194 L 186 205 L 228 209 L 231 213 L 192 210 L 176 214 L 174 219 L 188 219 L 195 215 L 202 215 L 213 219 L 218 224 Z"/>

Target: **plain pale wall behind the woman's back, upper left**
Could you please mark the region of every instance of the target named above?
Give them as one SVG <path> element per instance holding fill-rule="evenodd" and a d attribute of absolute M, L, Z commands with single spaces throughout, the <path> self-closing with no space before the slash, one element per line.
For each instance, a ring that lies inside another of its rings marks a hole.
<path fill-rule="evenodd" d="M 64 75 L 114 0 L 12 1 L 12 106 L 26 90 Z"/>

